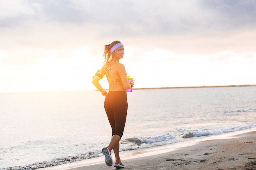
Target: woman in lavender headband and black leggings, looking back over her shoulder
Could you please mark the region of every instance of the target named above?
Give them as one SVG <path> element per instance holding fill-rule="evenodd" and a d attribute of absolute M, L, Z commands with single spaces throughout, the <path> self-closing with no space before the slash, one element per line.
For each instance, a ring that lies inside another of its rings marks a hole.
<path fill-rule="evenodd" d="M 104 108 L 108 116 L 108 121 L 112 128 L 112 138 L 107 147 L 102 149 L 105 155 L 107 166 L 112 166 L 111 150 L 114 150 L 116 161 L 114 167 L 124 168 L 119 156 L 119 141 L 124 133 L 124 126 L 127 115 L 127 96 L 126 89 L 134 85 L 134 81 L 127 80 L 126 70 L 119 60 L 124 58 L 124 45 L 120 41 L 113 41 L 105 45 L 105 61 L 101 70 L 93 76 L 92 83 L 99 89 L 103 96 L 106 96 Z M 100 85 L 99 80 L 106 74 L 109 83 L 107 93 Z"/>

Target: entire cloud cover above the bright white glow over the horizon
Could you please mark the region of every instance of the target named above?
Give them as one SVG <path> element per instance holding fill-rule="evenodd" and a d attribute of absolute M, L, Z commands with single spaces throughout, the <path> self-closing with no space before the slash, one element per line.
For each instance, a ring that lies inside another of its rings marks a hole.
<path fill-rule="evenodd" d="M 255 51 L 254 0 L 11 0 L 2 4 L 0 8 L 9 11 L 0 10 L 0 50 L 9 61 L 21 56 L 18 53 L 42 57 L 36 50 L 85 45 L 92 55 L 101 55 L 103 46 L 113 40 L 141 53 L 152 48 L 204 54 Z"/>

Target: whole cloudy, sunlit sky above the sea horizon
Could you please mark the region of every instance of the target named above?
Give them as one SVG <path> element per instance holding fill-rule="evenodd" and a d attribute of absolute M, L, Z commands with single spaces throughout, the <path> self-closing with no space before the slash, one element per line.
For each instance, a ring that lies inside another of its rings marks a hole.
<path fill-rule="evenodd" d="M 115 40 L 134 88 L 256 84 L 255 0 L 0 0 L 0 93 L 94 90 Z"/>

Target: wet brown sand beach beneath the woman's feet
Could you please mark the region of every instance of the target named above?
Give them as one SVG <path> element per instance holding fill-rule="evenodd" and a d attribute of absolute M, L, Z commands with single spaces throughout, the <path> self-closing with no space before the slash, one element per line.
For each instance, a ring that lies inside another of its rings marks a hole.
<path fill-rule="evenodd" d="M 114 154 L 112 154 L 115 160 Z M 256 129 L 120 153 L 125 170 L 256 170 Z M 105 157 L 45 170 L 115 170 Z"/>

